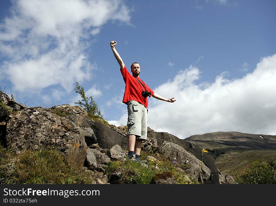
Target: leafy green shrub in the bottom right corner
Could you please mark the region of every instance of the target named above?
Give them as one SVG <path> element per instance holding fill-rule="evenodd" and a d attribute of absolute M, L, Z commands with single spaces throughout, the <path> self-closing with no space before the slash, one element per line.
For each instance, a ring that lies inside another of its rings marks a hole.
<path fill-rule="evenodd" d="M 235 180 L 239 184 L 276 184 L 276 159 L 267 163 L 263 159 L 253 161 L 245 173 L 236 174 Z"/>

